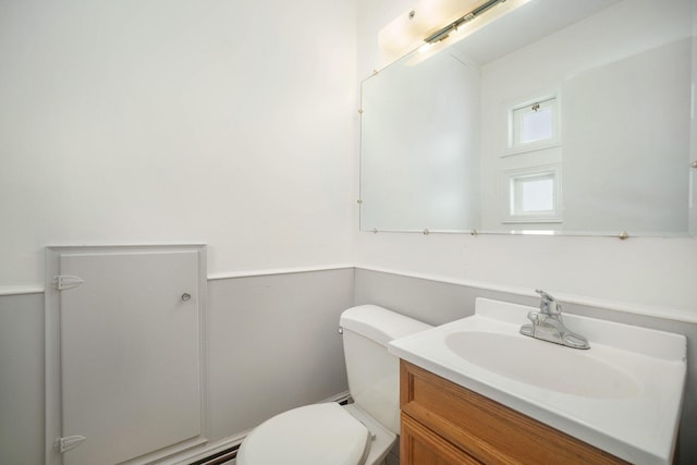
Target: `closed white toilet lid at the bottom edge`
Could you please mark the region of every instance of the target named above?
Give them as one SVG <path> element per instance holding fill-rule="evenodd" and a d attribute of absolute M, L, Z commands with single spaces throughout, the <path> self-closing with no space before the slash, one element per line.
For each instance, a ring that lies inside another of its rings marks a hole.
<path fill-rule="evenodd" d="M 242 442 L 237 465 L 358 465 L 370 432 L 337 403 L 306 405 L 262 423 Z"/>

